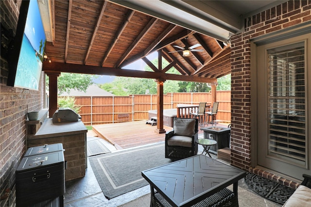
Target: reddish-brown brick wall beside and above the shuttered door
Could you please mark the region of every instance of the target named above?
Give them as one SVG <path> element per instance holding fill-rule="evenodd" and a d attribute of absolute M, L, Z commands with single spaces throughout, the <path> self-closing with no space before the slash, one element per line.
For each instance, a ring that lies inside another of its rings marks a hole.
<path fill-rule="evenodd" d="M 250 39 L 307 21 L 311 21 L 311 0 L 290 0 L 245 19 L 245 31 L 231 37 L 232 165 L 252 170 Z"/>

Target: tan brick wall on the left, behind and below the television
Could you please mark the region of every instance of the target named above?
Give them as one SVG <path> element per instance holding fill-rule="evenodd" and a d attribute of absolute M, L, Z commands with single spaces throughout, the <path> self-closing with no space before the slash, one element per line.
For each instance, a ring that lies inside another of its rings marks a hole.
<path fill-rule="evenodd" d="M 0 196 L 2 206 L 15 206 L 15 170 L 25 152 L 26 113 L 43 108 L 43 76 L 39 91 L 6 86 L 8 76 L 7 47 L 15 35 L 20 0 L 0 0 Z M 10 29 L 12 31 L 10 31 Z"/>

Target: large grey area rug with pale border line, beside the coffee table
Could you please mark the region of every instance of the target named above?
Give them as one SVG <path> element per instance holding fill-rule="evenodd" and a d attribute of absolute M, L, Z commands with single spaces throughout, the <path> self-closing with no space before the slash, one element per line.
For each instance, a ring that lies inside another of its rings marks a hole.
<path fill-rule="evenodd" d="M 141 171 L 171 162 L 165 158 L 164 143 L 138 147 L 89 158 L 106 198 L 148 185 Z"/>

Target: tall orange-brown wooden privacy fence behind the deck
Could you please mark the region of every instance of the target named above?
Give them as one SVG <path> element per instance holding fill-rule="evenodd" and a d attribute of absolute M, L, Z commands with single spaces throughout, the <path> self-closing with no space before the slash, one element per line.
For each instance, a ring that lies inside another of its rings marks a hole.
<path fill-rule="evenodd" d="M 76 96 L 75 104 L 81 106 L 80 115 L 88 125 L 110 124 L 124 121 L 148 120 L 148 111 L 156 110 L 156 95 L 130 96 Z M 230 123 L 231 91 L 217 91 L 219 102 L 217 120 Z M 211 93 L 168 93 L 164 95 L 164 109 L 175 109 L 177 104 L 212 105 Z"/>

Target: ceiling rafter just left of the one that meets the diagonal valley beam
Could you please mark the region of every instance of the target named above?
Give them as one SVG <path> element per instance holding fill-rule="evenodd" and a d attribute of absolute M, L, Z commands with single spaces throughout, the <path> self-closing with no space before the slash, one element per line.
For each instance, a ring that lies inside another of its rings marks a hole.
<path fill-rule="evenodd" d="M 151 20 L 148 22 L 148 24 L 144 27 L 144 29 L 139 33 L 139 35 L 136 37 L 134 42 L 127 48 L 127 50 L 124 52 L 118 63 L 115 65 L 115 67 L 120 67 L 120 65 L 123 63 L 123 61 L 129 56 L 131 51 L 138 45 L 138 43 L 146 36 L 146 34 L 152 29 L 152 27 L 155 25 L 158 19 L 155 17 L 151 18 Z"/>

